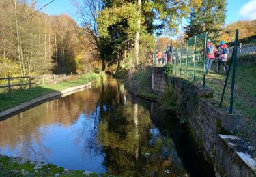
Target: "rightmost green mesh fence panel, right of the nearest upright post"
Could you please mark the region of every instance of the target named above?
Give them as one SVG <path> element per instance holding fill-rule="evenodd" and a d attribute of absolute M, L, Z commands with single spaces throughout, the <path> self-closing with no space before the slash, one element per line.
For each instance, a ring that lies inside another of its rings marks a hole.
<path fill-rule="evenodd" d="M 256 120 L 256 36 L 238 46 L 233 108 Z"/>

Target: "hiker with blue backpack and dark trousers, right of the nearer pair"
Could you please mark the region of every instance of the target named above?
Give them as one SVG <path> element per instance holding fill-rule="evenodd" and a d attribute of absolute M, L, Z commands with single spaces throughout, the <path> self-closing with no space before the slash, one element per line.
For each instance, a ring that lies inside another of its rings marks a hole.
<path fill-rule="evenodd" d="M 224 72 L 227 72 L 227 55 L 229 54 L 229 49 L 225 41 L 221 41 L 221 45 L 218 47 L 218 52 L 216 52 L 218 63 L 217 63 L 217 73 L 221 69 L 221 63 L 223 63 Z"/>

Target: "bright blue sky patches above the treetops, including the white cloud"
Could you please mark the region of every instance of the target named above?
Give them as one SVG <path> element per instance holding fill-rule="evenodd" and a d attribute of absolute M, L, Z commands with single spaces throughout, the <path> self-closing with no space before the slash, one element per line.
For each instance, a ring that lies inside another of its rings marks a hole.
<path fill-rule="evenodd" d="M 39 0 L 38 7 L 48 3 L 51 0 Z M 76 11 L 74 2 L 82 0 L 55 0 L 53 3 L 44 8 L 43 12 L 52 15 L 66 13 L 73 18 Z M 256 0 L 227 0 L 227 19 L 226 24 L 236 22 L 238 20 L 256 19 Z"/>

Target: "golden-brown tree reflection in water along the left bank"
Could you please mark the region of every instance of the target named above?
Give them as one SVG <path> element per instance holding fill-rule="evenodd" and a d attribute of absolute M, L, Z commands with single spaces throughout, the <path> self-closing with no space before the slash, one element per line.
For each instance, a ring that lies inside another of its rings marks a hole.
<path fill-rule="evenodd" d="M 56 123 L 69 126 L 76 122 L 79 114 L 89 116 L 96 108 L 98 97 L 96 90 L 82 91 L 3 120 L 0 122 L 0 146 L 16 150 L 22 157 L 44 160 L 44 154 L 50 152 L 40 140 L 46 133 L 44 127 Z"/>

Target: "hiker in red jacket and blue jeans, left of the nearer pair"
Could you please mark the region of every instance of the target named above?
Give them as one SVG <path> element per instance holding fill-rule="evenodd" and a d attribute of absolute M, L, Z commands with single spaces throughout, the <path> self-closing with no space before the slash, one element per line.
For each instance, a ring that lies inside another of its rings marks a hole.
<path fill-rule="evenodd" d="M 208 39 L 206 46 L 206 61 L 205 61 L 205 69 L 206 74 L 208 74 L 211 70 L 212 61 L 215 59 L 216 47 L 211 43 L 211 40 Z"/>

